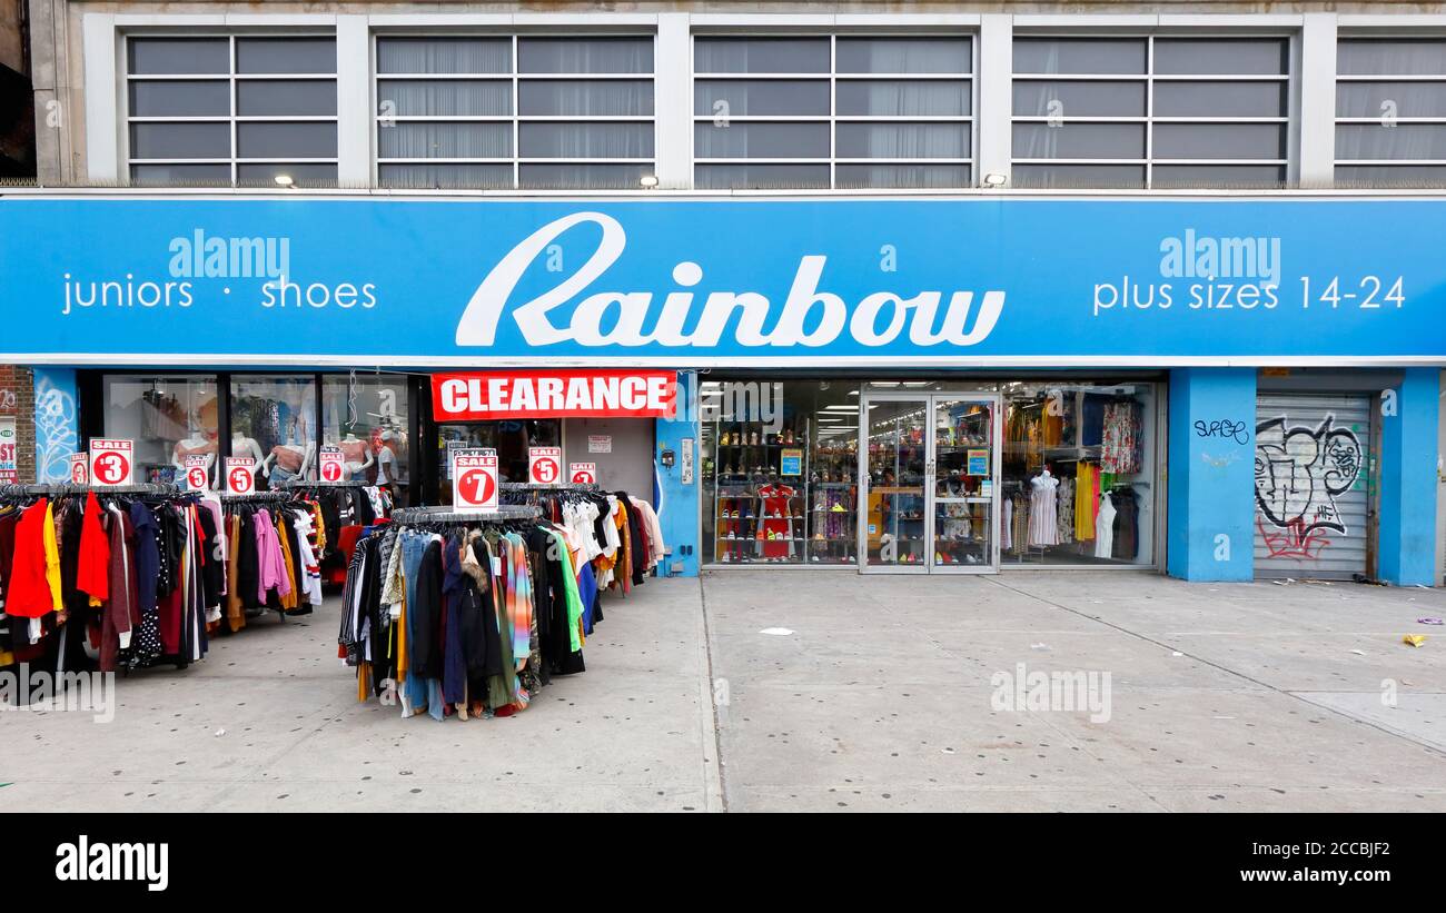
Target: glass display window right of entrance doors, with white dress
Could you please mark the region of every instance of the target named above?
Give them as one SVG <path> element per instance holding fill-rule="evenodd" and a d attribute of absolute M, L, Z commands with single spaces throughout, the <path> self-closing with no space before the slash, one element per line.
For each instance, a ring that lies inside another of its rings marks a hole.
<path fill-rule="evenodd" d="M 1150 565 L 1155 384 L 1002 383 L 1002 563 Z"/>

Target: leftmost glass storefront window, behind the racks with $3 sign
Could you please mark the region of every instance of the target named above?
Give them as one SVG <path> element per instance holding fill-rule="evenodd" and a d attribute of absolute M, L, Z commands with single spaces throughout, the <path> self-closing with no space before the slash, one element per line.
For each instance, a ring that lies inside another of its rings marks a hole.
<path fill-rule="evenodd" d="M 215 390 L 210 374 L 106 376 L 106 436 L 136 442 L 137 483 L 184 483 L 192 455 L 217 478 Z"/>

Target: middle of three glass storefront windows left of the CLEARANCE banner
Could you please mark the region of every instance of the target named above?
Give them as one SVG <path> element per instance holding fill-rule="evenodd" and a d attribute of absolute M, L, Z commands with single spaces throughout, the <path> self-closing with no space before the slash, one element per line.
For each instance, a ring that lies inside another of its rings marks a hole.
<path fill-rule="evenodd" d="M 317 383 L 309 374 L 231 377 L 230 456 L 254 456 L 257 488 L 314 478 Z"/>

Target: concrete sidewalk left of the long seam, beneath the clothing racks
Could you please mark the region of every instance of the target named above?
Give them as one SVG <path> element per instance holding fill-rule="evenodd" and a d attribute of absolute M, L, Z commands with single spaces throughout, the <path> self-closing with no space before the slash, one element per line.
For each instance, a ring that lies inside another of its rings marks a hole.
<path fill-rule="evenodd" d="M 340 600 L 257 618 L 187 672 L 117 682 L 110 724 L 0 714 L 0 805 L 35 810 L 711 810 L 713 715 L 697 581 L 604 597 L 587 672 L 506 719 L 359 704 Z M 224 732 L 223 732 L 224 731 Z"/>

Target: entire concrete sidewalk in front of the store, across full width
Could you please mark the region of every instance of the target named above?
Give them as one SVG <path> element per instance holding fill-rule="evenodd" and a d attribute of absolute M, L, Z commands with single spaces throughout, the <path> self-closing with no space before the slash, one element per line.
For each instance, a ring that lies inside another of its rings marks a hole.
<path fill-rule="evenodd" d="M 359 704 L 335 600 L 259 618 L 188 672 L 121 679 L 110 724 L 0 714 L 0 802 L 1446 810 L 1446 628 L 1416 623 L 1446 615 L 1443 591 L 720 571 L 649 581 L 604 611 L 586 673 L 518 717 L 470 722 Z M 1406 633 L 1429 640 L 1411 649 Z M 991 679 L 1017 663 L 1109 672 L 1109 719 L 995 709 Z"/>

